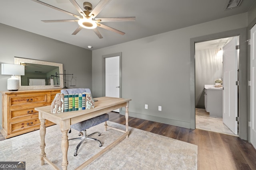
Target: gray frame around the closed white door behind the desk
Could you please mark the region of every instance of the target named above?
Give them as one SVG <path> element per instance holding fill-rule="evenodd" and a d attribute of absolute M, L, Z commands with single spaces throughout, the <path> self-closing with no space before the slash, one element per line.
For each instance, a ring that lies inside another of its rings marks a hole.
<path fill-rule="evenodd" d="M 122 98 L 122 52 L 102 55 L 102 96 L 106 96 L 106 58 L 116 56 L 119 56 L 119 97 Z"/>

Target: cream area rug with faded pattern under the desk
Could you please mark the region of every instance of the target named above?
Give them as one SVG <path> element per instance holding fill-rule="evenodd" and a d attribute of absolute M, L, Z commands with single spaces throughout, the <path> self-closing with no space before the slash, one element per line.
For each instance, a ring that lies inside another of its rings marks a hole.
<path fill-rule="evenodd" d="M 108 125 L 125 130 L 124 125 L 108 121 Z M 92 170 L 196 170 L 197 146 L 176 139 L 156 135 L 140 129 L 129 127 L 128 139 L 106 151 L 84 169 Z M 69 141 L 68 170 L 74 170 L 91 156 L 110 145 L 123 133 L 108 129 L 104 124 L 91 127 L 87 134 L 100 131 L 101 136 L 92 137 L 102 141 L 99 147 L 96 141 L 86 141 L 73 156 L 79 141 Z M 78 132 L 72 129 L 69 138 L 77 137 Z M 58 125 L 46 127 L 46 156 L 59 169 L 62 169 L 62 152 L 60 128 Z M 24 161 L 26 170 L 49 170 L 45 163 L 40 165 L 40 135 L 39 130 L 0 141 L 0 161 Z"/>

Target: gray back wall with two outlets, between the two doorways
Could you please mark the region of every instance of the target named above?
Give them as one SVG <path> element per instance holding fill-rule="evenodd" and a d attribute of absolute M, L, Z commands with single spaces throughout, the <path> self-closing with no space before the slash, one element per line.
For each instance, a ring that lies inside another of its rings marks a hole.
<path fill-rule="evenodd" d="M 102 55 L 122 52 L 122 98 L 131 116 L 194 128 L 190 106 L 190 39 L 247 26 L 247 13 L 106 47 L 92 52 L 92 92 L 102 94 Z M 148 104 L 148 109 L 144 109 Z M 158 111 L 162 106 L 162 111 Z"/>

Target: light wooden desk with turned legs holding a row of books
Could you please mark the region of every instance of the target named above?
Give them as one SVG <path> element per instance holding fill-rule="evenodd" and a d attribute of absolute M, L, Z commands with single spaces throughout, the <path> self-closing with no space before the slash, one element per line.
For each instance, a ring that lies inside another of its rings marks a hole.
<path fill-rule="evenodd" d="M 38 117 L 40 120 L 40 137 L 41 137 L 41 165 L 44 164 L 46 161 L 52 168 L 58 169 L 48 158 L 46 158 L 46 153 L 44 152 L 45 148 L 45 134 L 46 134 L 46 127 L 45 127 L 45 120 L 52 121 L 58 125 L 60 125 L 60 130 L 62 132 L 62 142 L 61 142 L 61 150 L 62 150 L 62 169 L 66 170 L 68 166 L 68 130 L 70 129 L 70 125 L 74 123 L 78 123 L 87 119 L 91 119 L 92 117 L 96 117 L 98 115 L 103 115 L 115 109 L 119 109 L 121 107 L 125 107 L 125 118 L 126 118 L 126 131 L 122 131 L 120 129 L 116 129 L 114 127 L 110 127 L 105 123 L 105 130 L 108 128 L 118 130 L 123 132 L 124 135 L 119 137 L 116 141 L 111 143 L 108 147 L 101 150 L 99 153 L 95 154 L 80 165 L 77 169 L 82 169 L 86 165 L 90 164 L 93 160 L 98 158 L 102 153 L 106 152 L 106 150 L 110 149 L 117 143 L 119 143 L 125 137 L 128 138 L 128 107 L 129 101 L 131 99 L 122 99 L 122 98 L 110 98 L 110 97 L 101 97 L 95 98 L 98 101 L 95 102 L 95 107 L 93 109 L 86 109 L 86 110 L 79 110 L 79 111 L 68 111 L 65 113 L 51 113 L 51 106 L 44 106 L 44 107 L 36 107 L 35 110 L 39 112 Z"/>

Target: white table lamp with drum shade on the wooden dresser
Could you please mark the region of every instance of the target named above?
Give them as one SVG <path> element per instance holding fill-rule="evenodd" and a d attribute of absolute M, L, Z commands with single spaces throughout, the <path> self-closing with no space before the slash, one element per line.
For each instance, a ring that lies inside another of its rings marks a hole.
<path fill-rule="evenodd" d="M 25 75 L 25 66 L 18 64 L 1 64 L 2 74 L 12 75 L 11 78 L 7 80 L 7 90 L 17 91 L 20 88 L 20 80 L 16 76 Z"/>

